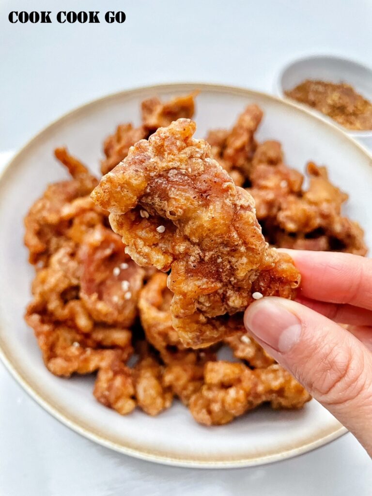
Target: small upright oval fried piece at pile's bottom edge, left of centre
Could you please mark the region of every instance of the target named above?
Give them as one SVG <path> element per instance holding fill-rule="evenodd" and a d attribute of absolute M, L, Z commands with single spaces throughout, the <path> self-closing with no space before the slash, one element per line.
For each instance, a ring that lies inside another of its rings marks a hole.
<path fill-rule="evenodd" d="M 148 415 L 158 415 L 173 401 L 171 388 L 163 379 L 164 366 L 151 354 L 142 356 L 133 370 L 137 405 Z"/>

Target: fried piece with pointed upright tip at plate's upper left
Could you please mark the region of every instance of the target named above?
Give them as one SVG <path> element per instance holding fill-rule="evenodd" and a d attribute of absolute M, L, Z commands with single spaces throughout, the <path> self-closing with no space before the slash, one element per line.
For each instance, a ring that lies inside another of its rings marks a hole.
<path fill-rule="evenodd" d="M 65 233 L 70 227 L 71 217 L 64 210 L 66 205 L 88 195 L 98 183 L 86 167 L 69 155 L 65 148 L 57 148 L 55 154 L 72 179 L 48 186 L 43 196 L 32 205 L 24 220 L 24 242 L 30 252 L 29 261 L 42 266 L 64 242 Z M 89 202 L 89 208 L 99 215 L 100 209 L 97 209 L 89 198 L 85 201 Z"/>

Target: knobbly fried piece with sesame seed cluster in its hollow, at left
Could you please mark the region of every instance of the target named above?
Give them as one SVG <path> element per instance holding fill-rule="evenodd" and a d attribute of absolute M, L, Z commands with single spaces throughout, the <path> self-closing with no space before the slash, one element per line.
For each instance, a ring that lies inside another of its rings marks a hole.
<path fill-rule="evenodd" d="M 130 327 L 143 279 L 144 270 L 125 254 L 120 237 L 98 225 L 78 248 L 66 241 L 37 272 L 30 308 L 84 333 L 95 322 Z"/>

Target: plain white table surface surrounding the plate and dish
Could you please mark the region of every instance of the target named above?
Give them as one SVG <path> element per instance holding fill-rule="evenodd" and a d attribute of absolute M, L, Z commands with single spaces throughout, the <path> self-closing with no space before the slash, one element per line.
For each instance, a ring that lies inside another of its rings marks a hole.
<path fill-rule="evenodd" d="M 283 63 L 304 54 L 372 65 L 371 0 L 30 3 L 0 2 L 0 167 L 37 130 L 110 92 L 175 81 L 272 92 Z M 10 24 L 15 8 L 52 10 L 52 17 L 59 10 L 100 10 L 101 20 L 108 9 L 124 10 L 127 19 Z M 364 496 L 371 488 L 371 460 L 351 434 L 257 468 L 191 470 L 129 458 L 62 426 L 0 364 L 0 496 Z"/>

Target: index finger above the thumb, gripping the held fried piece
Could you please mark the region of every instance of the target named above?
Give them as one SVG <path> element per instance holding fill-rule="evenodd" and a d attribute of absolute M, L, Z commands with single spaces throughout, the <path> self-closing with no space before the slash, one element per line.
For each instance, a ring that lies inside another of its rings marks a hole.
<path fill-rule="evenodd" d="M 372 310 L 372 260 L 350 253 L 283 250 L 301 272 L 301 295 Z"/>

